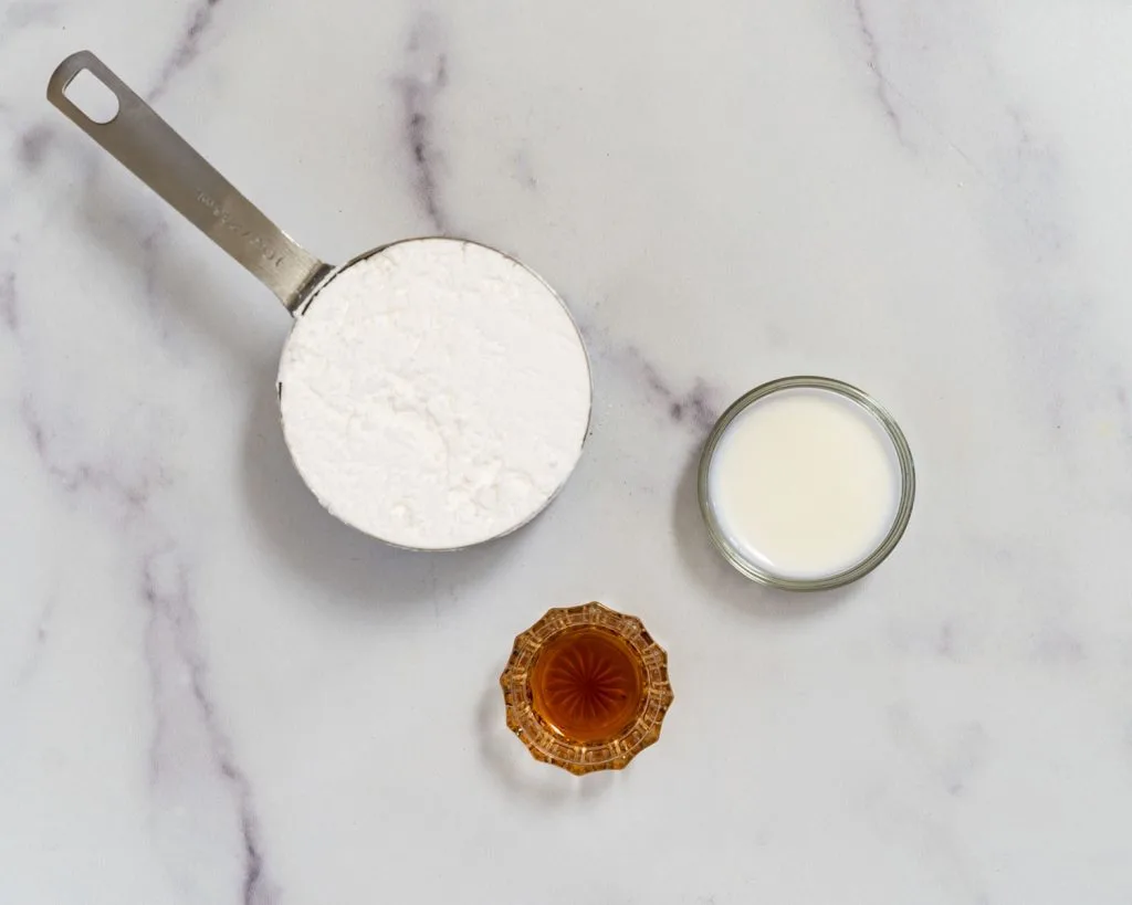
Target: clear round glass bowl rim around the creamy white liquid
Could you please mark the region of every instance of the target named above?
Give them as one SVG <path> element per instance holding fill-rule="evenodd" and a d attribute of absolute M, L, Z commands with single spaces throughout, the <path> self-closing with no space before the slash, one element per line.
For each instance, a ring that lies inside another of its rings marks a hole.
<path fill-rule="evenodd" d="M 719 522 L 719 516 L 715 511 L 714 505 L 712 503 L 707 483 L 712 459 L 715 455 L 715 448 L 719 446 L 720 440 L 722 440 L 723 434 L 731 422 L 735 421 L 735 419 L 738 417 L 739 414 L 741 414 L 753 403 L 758 402 L 773 393 L 790 389 L 826 390 L 859 405 L 867 414 L 876 420 L 881 428 L 884 429 L 884 432 L 892 441 L 892 447 L 895 451 L 897 462 L 900 467 L 900 500 L 897 505 L 895 514 L 893 515 L 892 526 L 889 528 L 887 534 L 884 535 L 881 543 L 872 553 L 860 560 L 857 564 L 851 566 L 848 569 L 843 569 L 842 571 L 832 575 L 818 576 L 816 578 L 791 578 L 775 575 L 774 572 L 765 569 L 763 566 L 752 562 L 741 550 L 731 543 L 727 534 L 723 532 Z M 715 549 L 723 554 L 724 559 L 743 572 L 743 575 L 753 581 L 767 585 L 769 587 L 780 588 L 782 591 L 827 591 L 830 588 L 848 585 L 851 581 L 856 581 L 858 578 L 863 578 L 868 575 L 885 560 L 889 553 L 891 553 L 895 545 L 900 542 L 901 536 L 903 536 L 904 528 L 908 527 L 908 519 L 911 518 L 912 503 L 916 499 L 916 466 L 912 462 L 911 449 L 908 447 L 908 440 L 904 439 L 904 433 L 900 430 L 900 425 L 897 424 L 895 420 L 889 414 L 884 406 L 882 406 L 867 393 L 850 383 L 846 383 L 842 380 L 834 380 L 829 377 L 783 377 L 779 380 L 772 380 L 769 383 L 763 383 L 760 387 L 755 387 L 749 393 L 744 394 L 736 399 L 736 402 L 732 403 L 731 406 L 720 416 L 719 421 L 715 422 L 715 426 L 712 428 L 711 433 L 707 436 L 707 442 L 704 445 L 703 453 L 700 456 L 697 489 L 700 495 L 700 511 L 703 515 L 704 524 L 707 526 L 707 535 L 711 537 L 712 544 L 714 544 Z"/>

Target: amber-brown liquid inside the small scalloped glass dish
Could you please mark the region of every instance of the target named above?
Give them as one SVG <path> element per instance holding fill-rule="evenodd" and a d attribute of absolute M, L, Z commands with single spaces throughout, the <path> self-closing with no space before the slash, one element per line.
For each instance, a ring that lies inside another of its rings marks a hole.
<path fill-rule="evenodd" d="M 644 703 L 640 656 L 616 635 L 567 629 L 547 641 L 531 669 L 531 706 L 556 732 L 597 744 L 627 730 Z"/>

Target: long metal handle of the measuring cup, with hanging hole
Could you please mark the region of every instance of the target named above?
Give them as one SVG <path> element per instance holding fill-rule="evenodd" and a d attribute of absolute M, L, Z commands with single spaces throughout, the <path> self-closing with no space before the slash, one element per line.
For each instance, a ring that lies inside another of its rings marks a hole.
<path fill-rule="evenodd" d="M 70 98 L 83 70 L 118 98 L 118 113 L 100 123 Z M 272 223 L 138 95 L 89 51 L 63 60 L 48 83 L 48 100 L 197 229 L 274 292 L 292 314 L 307 291 L 331 272 Z"/>

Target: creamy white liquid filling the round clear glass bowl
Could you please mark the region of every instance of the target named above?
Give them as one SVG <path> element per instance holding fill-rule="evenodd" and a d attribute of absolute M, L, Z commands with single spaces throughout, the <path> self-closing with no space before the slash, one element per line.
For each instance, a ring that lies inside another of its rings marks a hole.
<path fill-rule="evenodd" d="M 753 564 L 778 577 L 837 575 L 892 527 L 900 463 L 865 408 L 821 389 L 758 399 L 724 430 L 707 472 L 719 526 Z"/>

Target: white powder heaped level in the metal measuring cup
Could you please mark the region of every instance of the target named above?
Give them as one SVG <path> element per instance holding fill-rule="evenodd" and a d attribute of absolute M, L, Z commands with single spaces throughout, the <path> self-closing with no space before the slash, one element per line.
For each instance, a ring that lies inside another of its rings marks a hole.
<path fill-rule="evenodd" d="M 343 522 L 402 546 L 512 531 L 569 476 L 590 368 L 558 296 L 483 245 L 392 245 L 327 283 L 280 363 L 288 446 Z"/>

